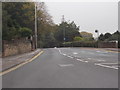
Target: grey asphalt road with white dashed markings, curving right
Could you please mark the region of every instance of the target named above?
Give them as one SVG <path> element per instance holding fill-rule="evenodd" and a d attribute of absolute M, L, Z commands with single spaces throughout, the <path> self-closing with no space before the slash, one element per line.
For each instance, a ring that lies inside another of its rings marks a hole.
<path fill-rule="evenodd" d="M 50 48 L 2 76 L 3 88 L 117 88 L 118 53 L 92 48 Z"/>

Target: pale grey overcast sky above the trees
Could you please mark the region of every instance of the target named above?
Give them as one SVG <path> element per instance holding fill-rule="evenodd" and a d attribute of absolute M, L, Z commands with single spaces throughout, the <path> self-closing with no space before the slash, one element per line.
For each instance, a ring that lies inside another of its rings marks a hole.
<path fill-rule="evenodd" d="M 49 14 L 56 24 L 61 22 L 62 15 L 66 21 L 75 21 L 80 31 L 94 33 L 113 33 L 118 30 L 117 2 L 45 2 Z"/>

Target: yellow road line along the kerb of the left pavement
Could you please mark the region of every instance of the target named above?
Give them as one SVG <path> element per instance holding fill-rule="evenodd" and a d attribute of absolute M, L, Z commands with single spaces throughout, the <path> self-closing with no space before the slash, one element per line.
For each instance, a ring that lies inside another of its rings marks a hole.
<path fill-rule="evenodd" d="M 5 75 L 5 74 L 7 74 L 7 73 L 9 73 L 9 72 L 11 72 L 11 71 L 14 71 L 14 70 L 16 70 L 17 68 L 20 68 L 20 67 L 22 67 L 23 65 L 25 65 L 25 64 L 27 64 L 27 63 L 29 63 L 29 62 L 32 62 L 32 61 L 35 60 L 39 55 L 41 55 L 43 52 L 44 52 L 44 51 L 39 52 L 36 56 L 34 56 L 33 58 L 31 58 L 30 60 L 27 60 L 27 61 L 25 61 L 25 62 L 23 62 L 23 63 L 15 66 L 15 67 L 13 67 L 13 68 L 10 68 L 10 69 L 8 69 L 8 70 L 6 70 L 6 71 L 0 72 L 0 76 Z"/>

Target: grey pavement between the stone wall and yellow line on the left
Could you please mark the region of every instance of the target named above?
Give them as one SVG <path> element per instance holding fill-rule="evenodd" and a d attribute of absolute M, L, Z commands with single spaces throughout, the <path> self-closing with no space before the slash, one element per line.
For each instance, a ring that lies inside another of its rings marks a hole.
<path fill-rule="evenodd" d="M 5 71 L 7 69 L 10 69 L 14 66 L 17 66 L 17 65 L 25 62 L 25 61 L 31 59 L 32 57 L 34 57 L 40 51 L 41 51 L 41 49 L 37 49 L 35 51 L 31 51 L 28 53 L 2 58 L 1 59 L 2 61 L 0 62 L 0 71 Z"/>

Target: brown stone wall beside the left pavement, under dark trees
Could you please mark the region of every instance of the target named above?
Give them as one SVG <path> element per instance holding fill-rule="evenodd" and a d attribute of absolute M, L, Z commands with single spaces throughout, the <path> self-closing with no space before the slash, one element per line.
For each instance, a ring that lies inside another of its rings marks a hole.
<path fill-rule="evenodd" d="M 31 51 L 31 43 L 27 40 L 4 41 L 3 56 L 11 56 Z"/>

